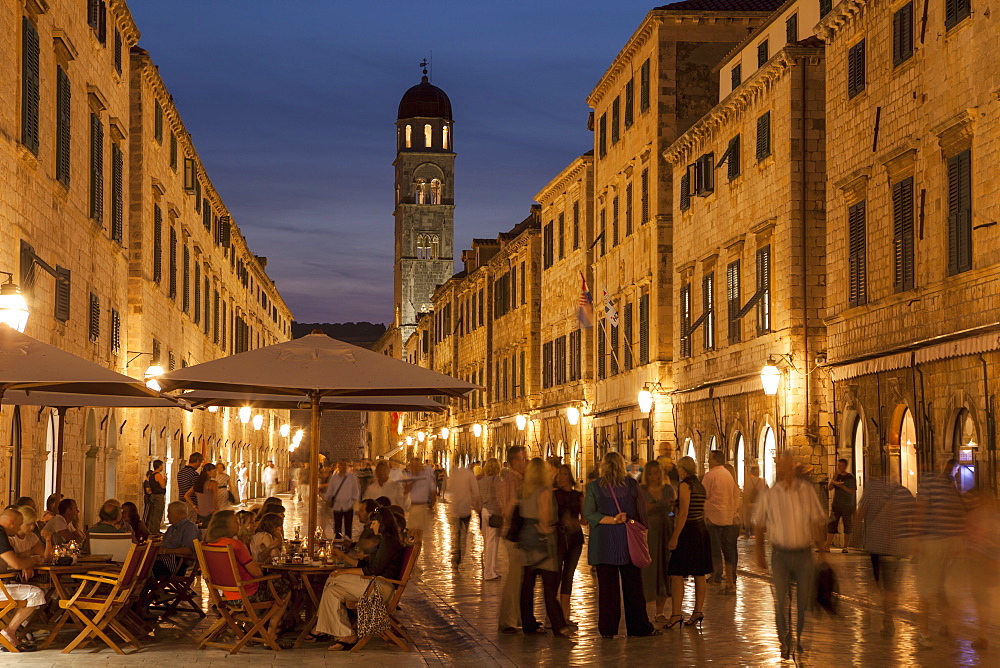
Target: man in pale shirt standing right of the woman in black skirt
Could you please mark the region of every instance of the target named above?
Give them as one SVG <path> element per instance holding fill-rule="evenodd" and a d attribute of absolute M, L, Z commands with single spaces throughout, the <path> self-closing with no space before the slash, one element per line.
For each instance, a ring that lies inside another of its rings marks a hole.
<path fill-rule="evenodd" d="M 701 480 L 705 487 L 705 525 L 712 540 L 711 582 L 722 582 L 726 576 L 723 593 L 736 593 L 736 541 L 740 527 L 736 513 L 740 507 L 740 488 L 732 474 L 726 470 L 725 455 L 712 450 L 708 455 L 708 473 Z"/>

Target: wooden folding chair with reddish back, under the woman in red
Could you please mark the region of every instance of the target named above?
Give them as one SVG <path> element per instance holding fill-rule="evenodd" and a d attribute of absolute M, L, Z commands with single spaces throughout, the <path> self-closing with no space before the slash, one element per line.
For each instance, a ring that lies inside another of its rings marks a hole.
<path fill-rule="evenodd" d="M 278 597 L 274 589 L 274 581 L 280 575 L 265 575 L 250 580 L 240 579 L 239 565 L 236 554 L 230 545 L 204 544 L 194 541 L 194 549 L 201 565 L 201 579 L 208 591 L 209 604 L 219 613 L 219 619 L 200 638 L 198 649 L 218 647 L 236 654 L 252 640 L 261 640 L 276 652 L 281 651 L 277 639 L 268 630 L 268 624 L 274 617 L 284 614 L 288 600 Z M 271 590 L 273 600 L 252 603 L 247 585 L 256 583 L 259 587 L 267 586 Z M 238 598 L 228 598 L 226 594 Z M 218 636 L 226 630 L 236 636 L 233 643 L 224 643 Z"/>

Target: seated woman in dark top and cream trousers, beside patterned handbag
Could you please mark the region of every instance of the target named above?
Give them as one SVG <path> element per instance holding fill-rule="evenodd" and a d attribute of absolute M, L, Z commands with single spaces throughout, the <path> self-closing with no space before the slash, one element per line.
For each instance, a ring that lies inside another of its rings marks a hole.
<path fill-rule="evenodd" d="M 384 508 L 372 514 L 372 533 L 380 537 L 378 549 L 368 558 L 360 559 L 356 568 L 341 568 L 333 571 L 319 602 L 319 616 L 316 619 L 316 633 L 334 636 L 337 641 L 331 651 L 340 652 L 354 647 L 358 636 L 347 618 L 347 601 L 357 601 L 364 595 L 370 580 L 362 576 L 381 576 L 398 580 L 403 572 L 403 543 L 392 513 Z M 341 557 L 346 557 L 340 553 Z M 393 588 L 386 583 L 378 586 L 379 594 L 386 601 L 392 596 Z"/>

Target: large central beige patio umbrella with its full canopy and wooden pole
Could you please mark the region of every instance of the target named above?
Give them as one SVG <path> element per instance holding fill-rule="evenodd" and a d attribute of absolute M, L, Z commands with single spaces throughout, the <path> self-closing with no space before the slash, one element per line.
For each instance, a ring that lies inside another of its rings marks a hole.
<path fill-rule="evenodd" d="M 157 378 L 165 391 L 213 390 L 308 397 L 312 412 L 309 483 L 319 481 L 320 412 L 324 397 L 461 397 L 480 389 L 464 380 L 424 369 L 314 331 L 238 355 L 175 369 Z M 422 409 L 418 409 L 422 410 Z M 315 499 L 309 505 L 309 551 L 316 529 Z"/>

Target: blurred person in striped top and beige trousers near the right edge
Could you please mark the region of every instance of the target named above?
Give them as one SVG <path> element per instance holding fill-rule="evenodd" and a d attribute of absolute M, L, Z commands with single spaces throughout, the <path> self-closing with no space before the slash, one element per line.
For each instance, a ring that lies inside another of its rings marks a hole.
<path fill-rule="evenodd" d="M 958 462 L 949 459 L 939 474 L 925 475 L 917 493 L 920 535 L 916 544 L 917 600 L 920 633 L 917 644 L 933 647 L 930 639 L 931 611 L 943 620 L 940 633 L 950 634 L 952 607 L 945 580 L 961 553 L 965 534 L 965 506 L 955 486 Z"/>

